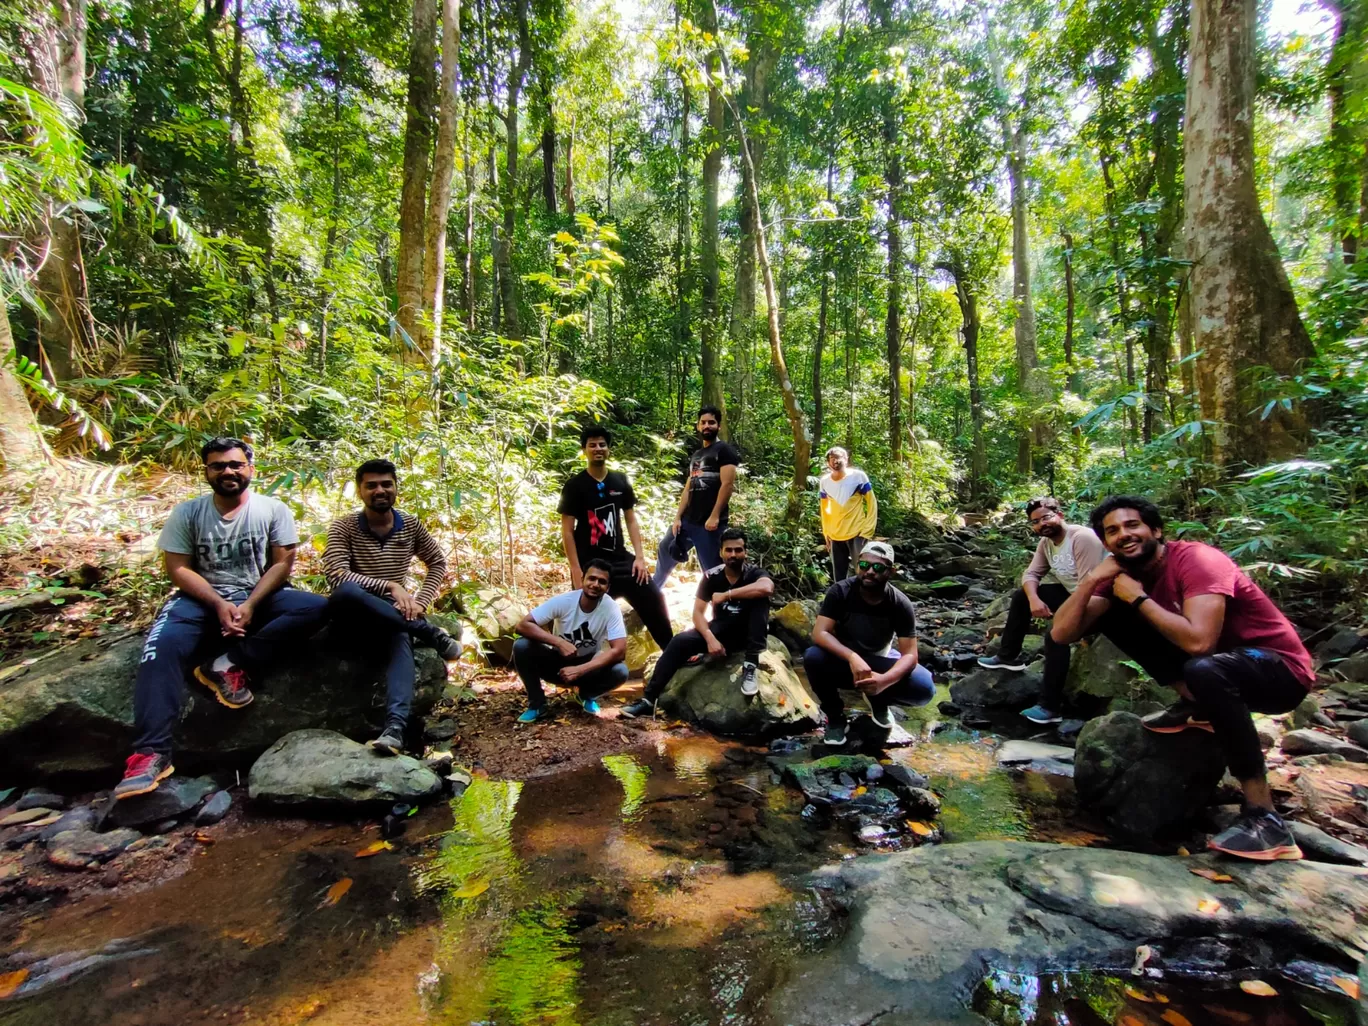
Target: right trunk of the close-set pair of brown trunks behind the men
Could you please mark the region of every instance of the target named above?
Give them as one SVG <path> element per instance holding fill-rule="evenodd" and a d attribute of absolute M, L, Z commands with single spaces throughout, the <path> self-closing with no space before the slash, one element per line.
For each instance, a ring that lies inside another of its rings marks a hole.
<path fill-rule="evenodd" d="M 428 361 L 442 356 L 442 319 L 446 306 L 446 222 L 451 213 L 456 174 L 457 78 L 461 68 L 461 0 L 442 0 L 442 89 L 432 156 L 432 194 L 427 205 L 423 256 L 423 320 Z"/>

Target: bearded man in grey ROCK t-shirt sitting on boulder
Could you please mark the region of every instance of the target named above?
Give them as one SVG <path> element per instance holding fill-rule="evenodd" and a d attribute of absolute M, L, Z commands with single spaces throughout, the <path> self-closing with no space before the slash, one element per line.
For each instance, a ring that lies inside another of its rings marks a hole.
<path fill-rule="evenodd" d="M 133 691 L 138 739 L 116 799 L 156 791 L 175 772 L 171 732 L 192 666 L 219 703 L 242 709 L 252 702 L 246 668 L 267 666 L 286 643 L 315 633 L 327 610 L 323 595 L 289 587 L 300 536 L 283 502 L 250 491 L 252 446 L 215 438 L 201 456 L 212 492 L 171 510 L 159 539 L 176 591 L 142 647 Z"/>

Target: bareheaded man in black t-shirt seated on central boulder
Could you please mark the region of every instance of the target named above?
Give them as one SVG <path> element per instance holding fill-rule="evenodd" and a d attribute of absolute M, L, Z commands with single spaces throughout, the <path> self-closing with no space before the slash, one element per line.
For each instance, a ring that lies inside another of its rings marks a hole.
<path fill-rule="evenodd" d="M 722 659 L 744 651 L 741 694 L 759 691 L 758 661 L 765 651 L 769 631 L 769 596 L 774 581 L 769 572 L 746 561 L 746 534 L 729 527 L 722 532 L 722 565 L 703 575 L 694 596 L 694 629 L 674 635 L 661 654 L 646 692 L 622 709 L 622 715 L 650 715 L 655 700 L 680 666 L 702 659 Z M 713 618 L 707 618 L 707 610 Z"/>

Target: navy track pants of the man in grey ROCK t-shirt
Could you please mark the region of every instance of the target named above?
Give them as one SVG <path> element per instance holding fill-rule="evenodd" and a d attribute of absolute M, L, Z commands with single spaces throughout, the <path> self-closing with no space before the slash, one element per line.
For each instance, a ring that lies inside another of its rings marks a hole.
<path fill-rule="evenodd" d="M 241 605 L 248 592 L 228 601 Z M 185 674 L 198 662 L 227 651 L 248 670 L 261 669 L 285 655 L 289 646 L 316 633 L 327 618 L 328 601 L 297 588 L 268 595 L 252 616 L 246 637 L 224 640 L 218 614 L 197 599 L 175 592 L 152 621 L 142 644 L 133 685 L 134 751 L 171 754 L 171 733 L 185 705 Z"/>

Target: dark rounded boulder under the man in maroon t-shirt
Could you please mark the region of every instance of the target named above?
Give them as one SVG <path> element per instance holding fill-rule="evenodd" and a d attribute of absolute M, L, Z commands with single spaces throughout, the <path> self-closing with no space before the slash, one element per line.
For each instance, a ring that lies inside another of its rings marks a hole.
<path fill-rule="evenodd" d="M 1205 808 L 1226 773 L 1207 731 L 1153 733 L 1133 713 L 1090 720 L 1074 751 L 1078 800 L 1122 837 L 1153 841 Z"/>

